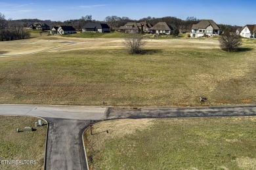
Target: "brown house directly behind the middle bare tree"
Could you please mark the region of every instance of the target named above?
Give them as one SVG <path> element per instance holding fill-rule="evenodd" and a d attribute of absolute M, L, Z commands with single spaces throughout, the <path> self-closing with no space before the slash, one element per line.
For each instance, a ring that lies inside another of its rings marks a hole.
<path fill-rule="evenodd" d="M 128 22 L 118 28 L 120 33 L 143 33 L 143 25 L 136 22 Z"/>

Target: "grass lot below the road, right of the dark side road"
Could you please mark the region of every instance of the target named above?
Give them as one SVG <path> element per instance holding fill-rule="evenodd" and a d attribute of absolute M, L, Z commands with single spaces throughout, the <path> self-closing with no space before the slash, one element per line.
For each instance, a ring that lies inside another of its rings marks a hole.
<path fill-rule="evenodd" d="M 255 117 L 112 120 L 84 139 L 91 169 L 247 170 L 256 169 L 255 128 Z"/>

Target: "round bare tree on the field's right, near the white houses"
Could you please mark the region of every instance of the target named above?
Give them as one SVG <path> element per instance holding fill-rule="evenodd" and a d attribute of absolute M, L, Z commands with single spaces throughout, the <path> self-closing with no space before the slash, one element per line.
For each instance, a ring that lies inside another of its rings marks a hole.
<path fill-rule="evenodd" d="M 227 52 L 237 52 L 238 47 L 242 45 L 242 38 L 240 35 L 226 31 L 221 35 L 219 42 L 222 50 Z"/>

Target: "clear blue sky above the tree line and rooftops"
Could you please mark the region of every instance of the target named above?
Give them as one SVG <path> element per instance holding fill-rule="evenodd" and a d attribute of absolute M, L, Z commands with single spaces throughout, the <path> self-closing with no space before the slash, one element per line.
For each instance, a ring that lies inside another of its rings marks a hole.
<path fill-rule="evenodd" d="M 110 0 L 1 0 L 0 12 L 6 19 L 38 18 L 41 20 L 64 21 L 92 15 L 94 20 L 106 16 L 127 16 L 140 19 L 175 16 L 185 20 L 188 16 L 198 19 L 212 19 L 217 24 L 256 24 L 255 0 L 212 0 L 212 1 L 110 1 Z"/>

